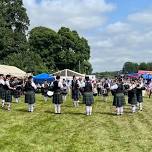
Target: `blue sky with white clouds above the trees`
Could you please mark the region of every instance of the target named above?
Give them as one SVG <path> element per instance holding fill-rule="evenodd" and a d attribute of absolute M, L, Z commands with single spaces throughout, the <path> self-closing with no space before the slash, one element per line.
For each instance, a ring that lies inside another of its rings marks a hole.
<path fill-rule="evenodd" d="M 61 26 L 88 40 L 93 72 L 152 62 L 152 0 L 23 0 L 30 29 Z"/>

